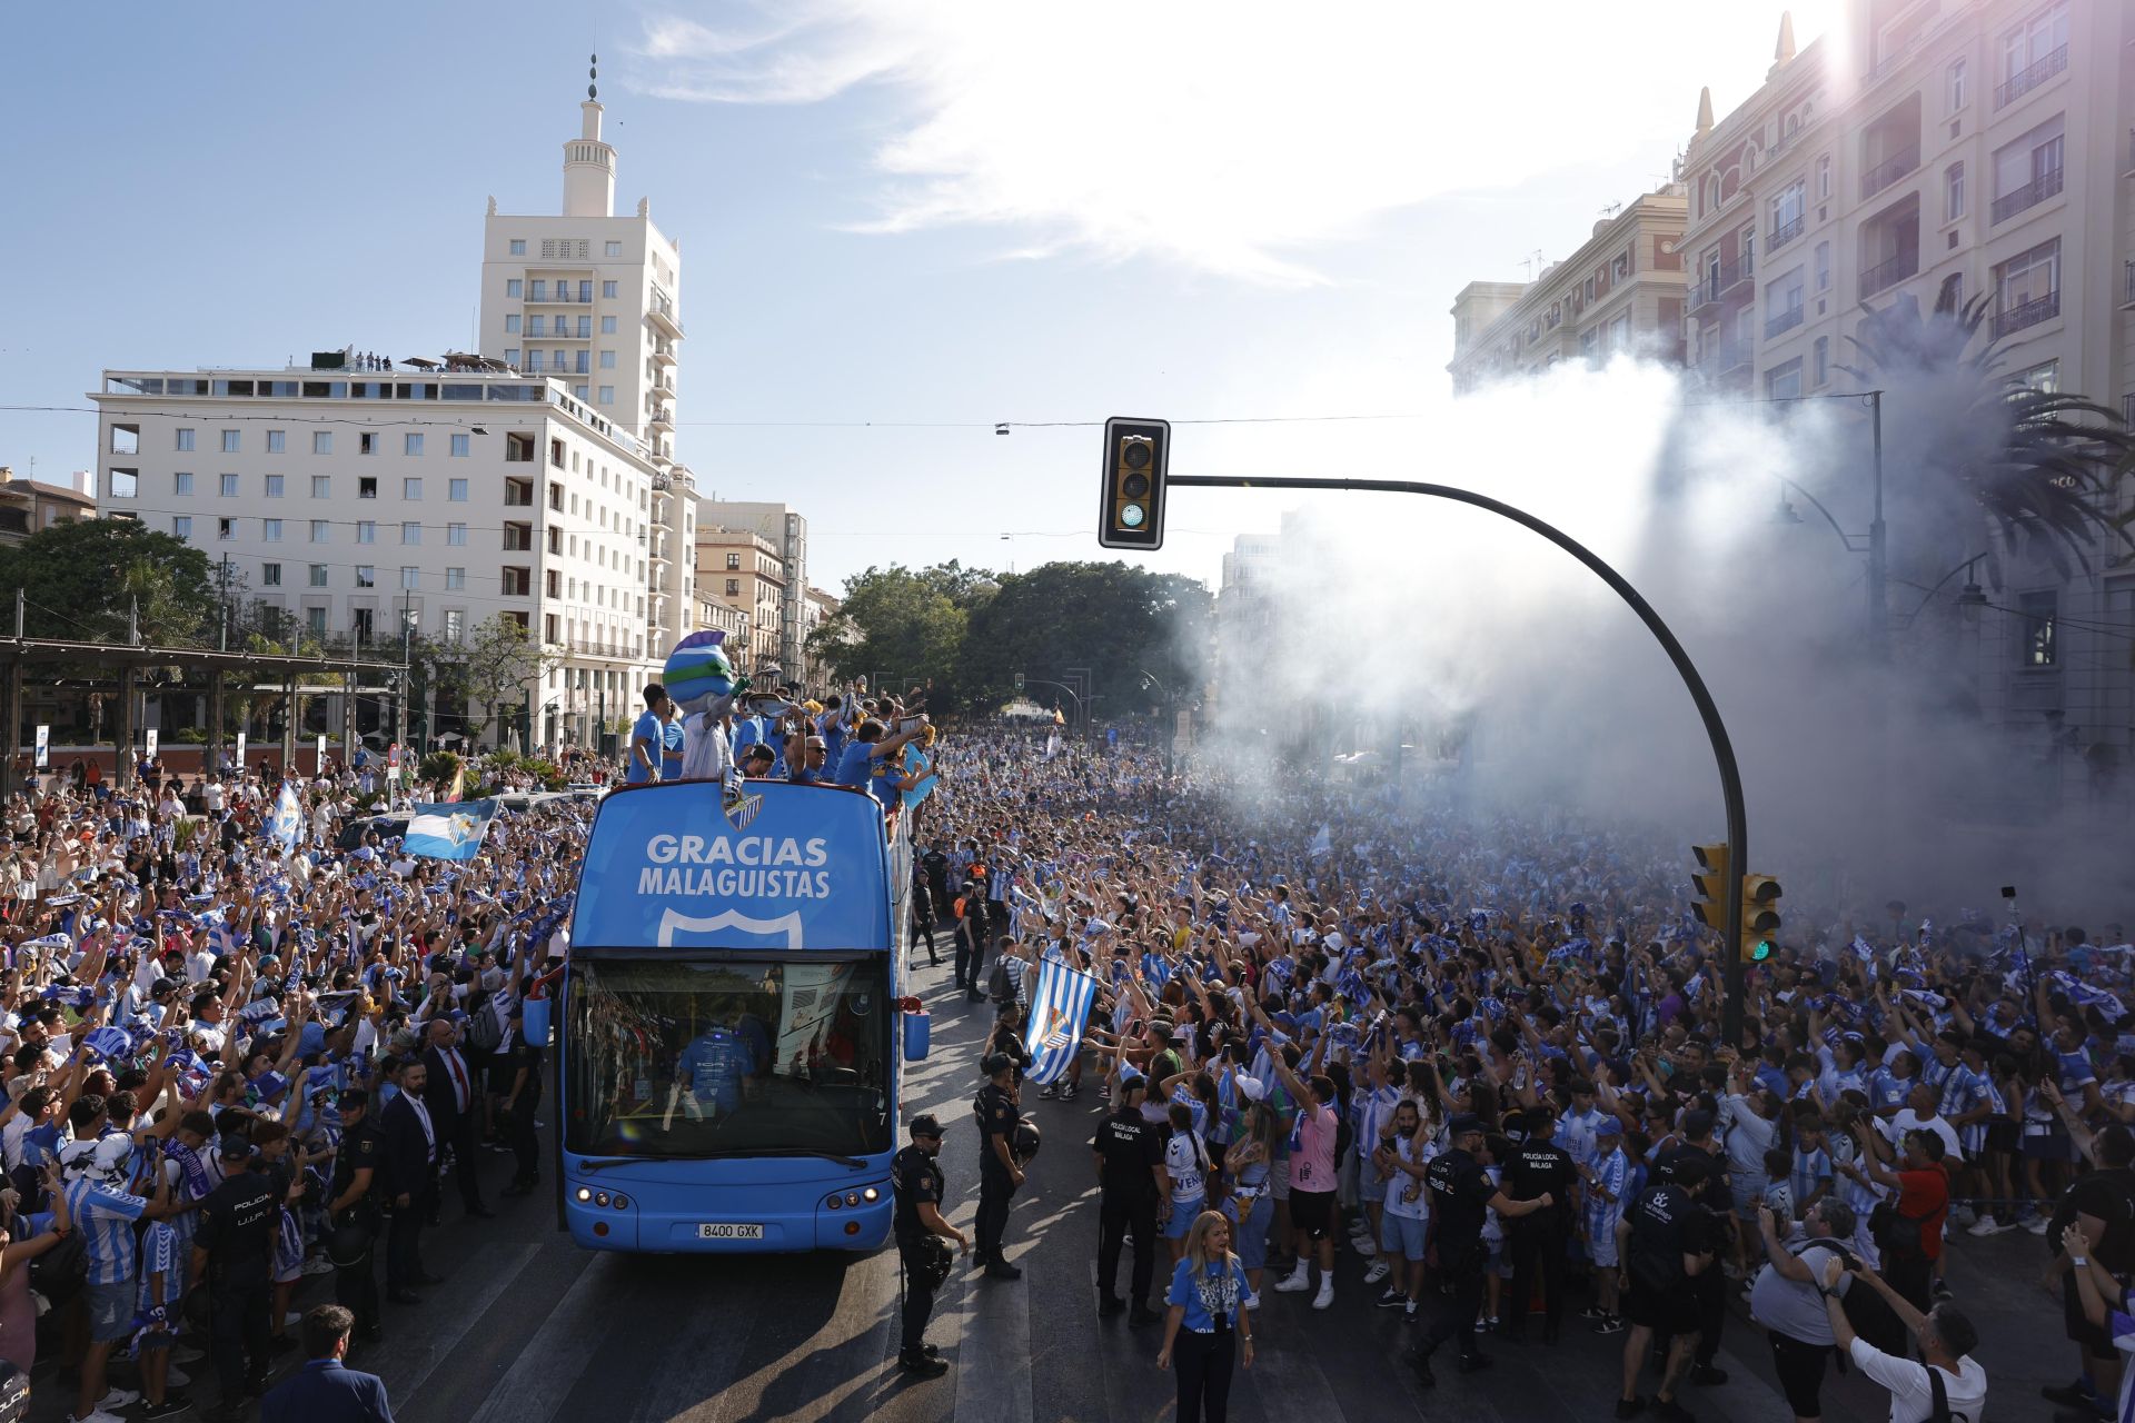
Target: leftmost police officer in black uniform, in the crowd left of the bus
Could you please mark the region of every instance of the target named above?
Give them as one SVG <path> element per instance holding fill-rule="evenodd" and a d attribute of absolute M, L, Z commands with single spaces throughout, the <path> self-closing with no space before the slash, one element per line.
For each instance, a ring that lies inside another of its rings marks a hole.
<path fill-rule="evenodd" d="M 222 1397 L 241 1404 L 267 1387 L 267 1312 L 273 1299 L 273 1235 L 280 1201 L 252 1169 L 252 1144 L 222 1137 L 222 1184 L 201 1201 L 192 1278 L 207 1280 L 209 1331 Z"/>

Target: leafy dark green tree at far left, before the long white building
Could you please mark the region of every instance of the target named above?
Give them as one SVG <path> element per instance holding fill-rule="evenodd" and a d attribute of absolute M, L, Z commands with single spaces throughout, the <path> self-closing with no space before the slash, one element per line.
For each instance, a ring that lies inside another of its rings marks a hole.
<path fill-rule="evenodd" d="M 0 550 L 0 587 L 23 589 L 32 638 L 122 642 L 128 608 L 141 640 L 201 646 L 218 623 L 207 555 L 132 518 L 79 518 Z"/>

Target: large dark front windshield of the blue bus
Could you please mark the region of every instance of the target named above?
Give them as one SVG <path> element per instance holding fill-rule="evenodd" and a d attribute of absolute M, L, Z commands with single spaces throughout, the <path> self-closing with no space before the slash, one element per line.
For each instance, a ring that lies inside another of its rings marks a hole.
<path fill-rule="evenodd" d="M 886 975 L 882 954 L 581 960 L 570 975 L 566 1150 L 888 1150 Z"/>

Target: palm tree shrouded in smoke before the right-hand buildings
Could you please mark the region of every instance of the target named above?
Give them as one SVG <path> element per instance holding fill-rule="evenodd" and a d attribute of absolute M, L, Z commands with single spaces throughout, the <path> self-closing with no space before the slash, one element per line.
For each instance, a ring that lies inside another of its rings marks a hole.
<path fill-rule="evenodd" d="M 1900 297 L 1870 309 L 1851 337 L 1860 365 L 1838 367 L 1864 386 L 1915 403 L 1911 431 L 1924 499 L 1956 510 L 1977 508 L 2000 535 L 1990 548 L 1988 576 L 2000 587 L 2000 550 L 2033 550 L 2069 578 L 2090 570 L 2101 540 L 2135 548 L 2126 516 L 2114 516 L 2114 489 L 2135 471 L 2135 431 L 2105 405 L 2082 395 L 2039 390 L 2003 373 L 2007 348 L 1973 339 L 1992 299 L 1958 305 L 1951 290 L 1921 314 Z M 1971 354 L 1966 354 L 1971 352 Z M 1921 418 L 1924 416 L 1924 418 Z M 1971 529 L 1951 529 L 1971 540 Z M 1949 550 L 1921 550 L 1941 559 Z M 1966 557 L 1958 548 L 1954 557 Z M 1932 574 L 1926 574 L 1932 576 Z"/>

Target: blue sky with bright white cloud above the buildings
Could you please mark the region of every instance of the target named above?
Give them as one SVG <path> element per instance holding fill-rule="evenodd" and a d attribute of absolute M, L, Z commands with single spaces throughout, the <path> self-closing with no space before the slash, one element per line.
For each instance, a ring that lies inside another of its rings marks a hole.
<path fill-rule="evenodd" d="M 1796 6 L 1802 45 L 1836 4 Z M 993 420 L 1405 414 L 1183 427 L 1172 467 L 1418 478 L 1454 292 L 1578 247 L 1667 171 L 1699 83 L 1725 113 L 1764 79 L 1778 26 L 1475 9 L 17 9 L 0 401 L 465 346 L 485 198 L 555 211 L 598 47 L 617 209 L 649 196 L 683 245 L 679 454 L 807 512 L 816 582 L 1097 557 L 1095 431 Z M 837 427 L 865 420 L 980 429 Z M 94 418 L 0 412 L 0 463 L 32 457 L 64 482 Z M 1179 499 L 1146 561 L 1215 580 L 1281 508 Z"/>

